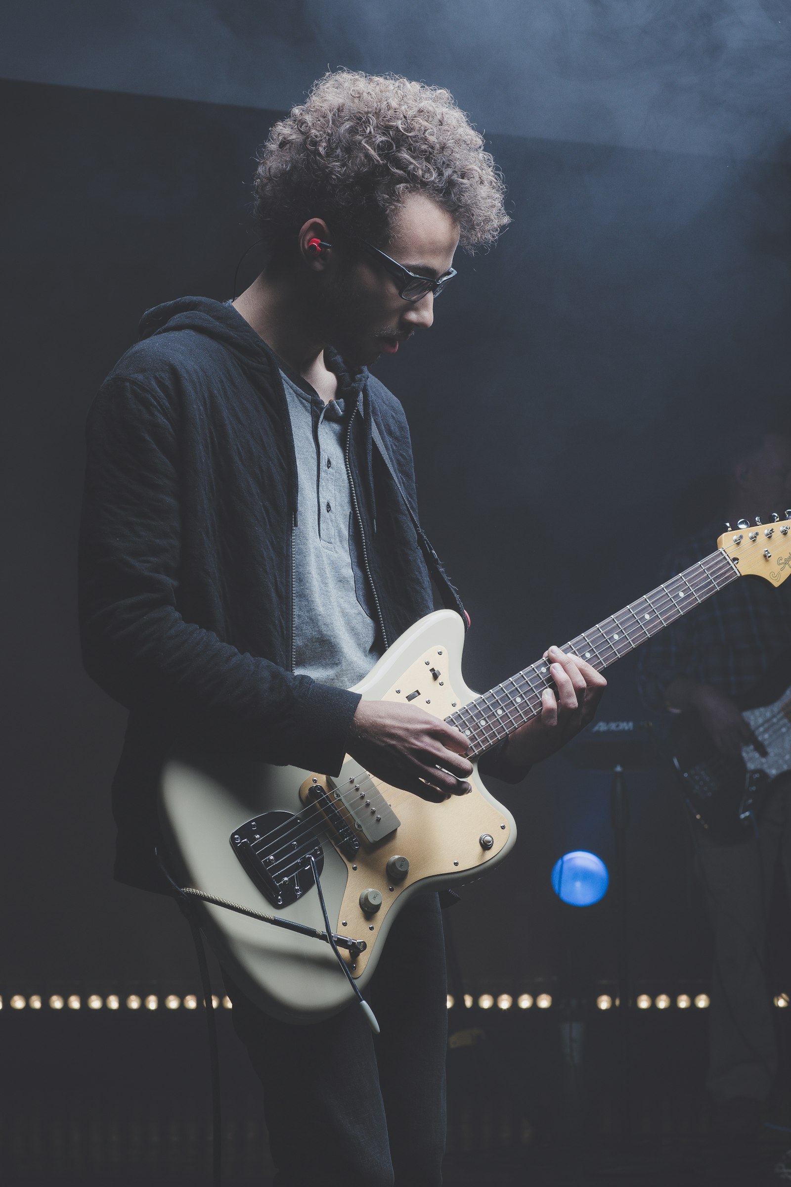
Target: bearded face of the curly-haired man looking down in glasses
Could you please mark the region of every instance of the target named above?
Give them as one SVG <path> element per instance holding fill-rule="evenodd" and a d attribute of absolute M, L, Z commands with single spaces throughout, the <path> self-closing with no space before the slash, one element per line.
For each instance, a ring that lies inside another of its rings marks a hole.
<path fill-rule="evenodd" d="M 410 272 L 436 279 L 453 264 L 459 228 L 430 198 L 408 195 L 394 231 L 389 246 L 375 246 Z M 415 330 L 430 326 L 432 293 L 416 301 L 403 300 L 398 281 L 379 260 L 347 240 L 339 240 L 333 250 L 338 254 L 325 273 L 318 316 L 327 339 L 349 363 L 369 367 L 381 354 L 393 354 Z"/>

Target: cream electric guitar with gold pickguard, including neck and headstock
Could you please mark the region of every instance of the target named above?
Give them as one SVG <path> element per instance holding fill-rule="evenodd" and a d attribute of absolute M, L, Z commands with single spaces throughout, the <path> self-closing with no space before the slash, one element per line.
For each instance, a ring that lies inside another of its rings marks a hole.
<path fill-rule="evenodd" d="M 790 519 L 720 537 L 716 552 L 563 650 L 601 671 L 742 573 L 779 585 L 791 570 Z M 477 760 L 538 716 L 549 666 L 537 660 L 477 694 L 461 674 L 463 647 L 461 618 L 438 610 L 356 691 L 460 729 L 474 767 L 467 795 L 427 802 L 351 757 L 334 776 L 210 751 L 166 762 L 159 812 L 170 872 L 203 900 L 200 926 L 221 964 L 274 1017 L 317 1022 L 355 1001 L 412 895 L 477 878 L 513 848 L 513 818 L 486 791 Z"/>

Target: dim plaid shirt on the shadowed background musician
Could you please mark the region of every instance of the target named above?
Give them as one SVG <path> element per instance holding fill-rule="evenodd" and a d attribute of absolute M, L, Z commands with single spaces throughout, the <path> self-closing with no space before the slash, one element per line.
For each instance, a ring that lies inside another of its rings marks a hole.
<path fill-rule="evenodd" d="M 714 525 L 672 548 L 662 561 L 659 580 L 709 556 L 721 532 Z M 637 688 L 655 712 L 665 710 L 664 691 L 680 675 L 738 697 L 785 650 L 791 650 L 791 580 L 774 589 L 748 577 L 726 585 L 640 647 Z"/>

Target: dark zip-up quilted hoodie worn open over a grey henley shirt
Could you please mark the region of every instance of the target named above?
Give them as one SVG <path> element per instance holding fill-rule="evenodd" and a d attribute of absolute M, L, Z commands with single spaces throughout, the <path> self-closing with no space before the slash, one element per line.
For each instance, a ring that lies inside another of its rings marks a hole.
<path fill-rule="evenodd" d="M 79 624 L 88 673 L 129 710 L 115 876 L 157 889 L 157 781 L 174 740 L 337 774 L 359 697 L 292 672 L 296 464 L 272 350 L 202 297 L 149 310 L 140 334 L 88 418 Z M 339 394 L 365 393 L 350 466 L 387 646 L 434 609 L 371 417 L 414 508 L 409 430 L 365 368 L 325 358 Z"/>

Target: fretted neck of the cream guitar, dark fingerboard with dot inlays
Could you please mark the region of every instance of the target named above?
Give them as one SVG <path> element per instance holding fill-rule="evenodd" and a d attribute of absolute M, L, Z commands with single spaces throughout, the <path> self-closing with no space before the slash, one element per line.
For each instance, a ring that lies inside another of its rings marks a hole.
<path fill-rule="evenodd" d="M 727 553 L 713 552 L 645 597 L 583 630 L 561 650 L 602 672 L 738 577 L 739 570 Z M 477 758 L 519 725 L 537 717 L 543 690 L 553 687 L 549 664 L 541 659 L 445 719 L 467 735 L 467 755 Z"/>

